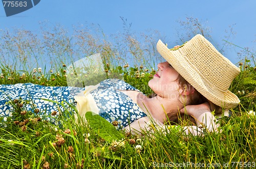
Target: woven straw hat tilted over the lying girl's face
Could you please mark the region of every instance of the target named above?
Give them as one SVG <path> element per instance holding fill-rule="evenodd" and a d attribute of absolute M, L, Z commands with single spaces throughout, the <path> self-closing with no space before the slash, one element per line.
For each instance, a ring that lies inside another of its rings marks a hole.
<path fill-rule="evenodd" d="M 239 98 L 228 90 L 240 69 L 202 35 L 196 35 L 173 49 L 168 49 L 159 40 L 157 50 L 190 85 L 212 103 L 225 109 L 240 103 Z"/>

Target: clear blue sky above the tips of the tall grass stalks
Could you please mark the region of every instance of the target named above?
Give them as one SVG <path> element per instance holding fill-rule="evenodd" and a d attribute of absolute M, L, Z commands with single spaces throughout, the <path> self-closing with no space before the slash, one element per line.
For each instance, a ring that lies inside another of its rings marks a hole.
<path fill-rule="evenodd" d="M 255 9 L 255 0 L 41 0 L 32 9 L 10 17 L 6 17 L 4 7 L 0 5 L 0 29 L 23 27 L 36 31 L 39 29 L 40 21 L 48 20 L 52 25 L 61 24 L 67 29 L 72 29 L 72 25 L 84 23 L 99 24 L 103 32 L 108 35 L 123 30 L 121 16 L 129 23 L 132 22 L 133 31 L 158 30 L 175 41 L 177 40 L 175 39 L 177 38 L 175 36 L 177 20 L 194 17 L 208 21 L 208 26 L 212 27 L 212 39 L 217 43 L 222 43 L 225 30 L 229 29 L 229 25 L 236 24 L 233 29 L 237 34 L 232 42 L 255 50 Z M 233 52 L 230 51 L 225 56 L 231 62 L 237 63 L 237 56 Z"/>

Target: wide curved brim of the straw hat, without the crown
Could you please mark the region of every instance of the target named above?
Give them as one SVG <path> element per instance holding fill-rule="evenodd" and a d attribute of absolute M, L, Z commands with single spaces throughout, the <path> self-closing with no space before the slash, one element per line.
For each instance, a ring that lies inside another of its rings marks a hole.
<path fill-rule="evenodd" d="M 178 50 L 169 50 L 161 40 L 157 43 L 157 50 L 190 85 L 212 103 L 225 109 L 234 108 L 240 103 L 239 98 L 229 90 L 217 90 L 209 81 L 202 78 L 197 68 L 182 54 L 175 54 Z"/>

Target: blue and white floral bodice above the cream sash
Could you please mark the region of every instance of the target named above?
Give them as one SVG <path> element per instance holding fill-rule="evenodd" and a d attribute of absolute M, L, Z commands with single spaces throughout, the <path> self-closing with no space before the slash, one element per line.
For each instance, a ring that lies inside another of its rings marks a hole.
<path fill-rule="evenodd" d="M 99 108 L 99 115 L 110 123 L 117 121 L 118 128 L 146 116 L 140 107 L 120 90 L 140 92 L 120 79 L 106 79 L 91 92 Z"/>

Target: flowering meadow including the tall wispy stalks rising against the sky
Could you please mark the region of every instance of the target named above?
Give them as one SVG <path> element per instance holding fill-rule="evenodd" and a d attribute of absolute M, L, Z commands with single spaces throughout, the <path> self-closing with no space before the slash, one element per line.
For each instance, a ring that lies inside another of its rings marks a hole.
<path fill-rule="evenodd" d="M 31 82 L 69 86 L 69 81 L 74 80 L 79 83 L 79 77 L 94 75 L 97 68 L 70 72 L 70 63 L 100 53 L 104 78 L 118 74 L 144 94 L 152 93 L 147 82 L 156 72 L 154 63 L 162 61 L 155 48 L 155 42 L 165 38 L 160 33 L 141 34 L 138 38 L 124 24 L 123 33 L 106 37 L 102 30 L 94 29 L 96 34 L 93 34 L 88 27 L 76 27 L 69 33 L 59 25 L 47 29 L 44 24 L 38 34 L 23 29 L 0 31 L 0 84 Z M 99 34 L 101 36 L 97 36 Z M 61 125 L 53 125 L 34 113 L 39 110 L 26 111 L 24 104 L 29 103 L 17 98 L 9 102 L 13 106 L 12 117 L 0 118 L 0 167 L 255 167 L 255 54 L 242 48 L 238 55 L 241 62 L 237 66 L 241 73 L 229 90 L 241 103 L 231 109 L 231 117 L 219 119 L 219 132 L 184 136 L 182 125 L 166 126 L 162 131 L 152 124 L 150 130 L 135 135 L 116 130 L 115 124 L 100 117 L 93 118 L 90 112 L 86 115 L 88 124 L 82 119 L 76 123 L 73 116 L 68 116 L 68 110 L 56 117 Z M 90 80 L 83 81 L 83 86 L 95 80 L 87 78 Z M 77 112 L 75 106 L 73 109 Z"/>

